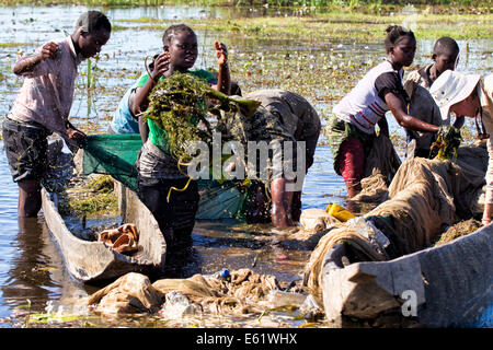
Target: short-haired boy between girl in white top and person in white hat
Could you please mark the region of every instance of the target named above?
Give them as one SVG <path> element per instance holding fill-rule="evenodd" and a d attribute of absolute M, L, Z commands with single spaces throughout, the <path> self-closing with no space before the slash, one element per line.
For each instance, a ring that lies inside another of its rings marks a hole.
<path fill-rule="evenodd" d="M 448 117 L 442 118 L 438 107 L 429 95 L 429 88 L 433 82 L 446 70 L 455 70 L 459 57 L 459 45 L 451 37 L 440 37 L 436 40 L 433 48 L 433 63 L 414 70 L 409 73 L 404 84 L 404 90 L 410 96 L 409 114 L 416 118 L 433 125 L 449 125 Z M 460 128 L 465 118 L 456 118 L 454 126 Z M 429 132 L 413 131 L 405 129 L 408 133 L 408 143 L 416 140 L 415 156 L 429 156 L 429 148 L 435 141 L 435 135 Z"/>

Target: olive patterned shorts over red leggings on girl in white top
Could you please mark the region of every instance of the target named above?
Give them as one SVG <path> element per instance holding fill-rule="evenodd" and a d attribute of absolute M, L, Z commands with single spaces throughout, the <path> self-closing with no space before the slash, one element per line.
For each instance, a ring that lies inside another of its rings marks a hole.
<path fill-rule="evenodd" d="M 363 132 L 354 125 L 339 119 L 335 115 L 329 117 L 326 136 L 334 159 L 334 171 L 337 175 L 342 175 L 340 165 L 341 144 L 347 139 L 358 139 L 363 143 L 365 155 L 367 155 L 375 138 L 375 133 Z"/>

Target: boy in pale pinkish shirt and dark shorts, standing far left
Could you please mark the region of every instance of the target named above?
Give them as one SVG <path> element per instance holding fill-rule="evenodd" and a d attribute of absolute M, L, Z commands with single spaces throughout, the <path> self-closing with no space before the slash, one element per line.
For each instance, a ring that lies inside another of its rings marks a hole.
<path fill-rule="evenodd" d="M 47 170 L 47 137 L 60 135 L 74 152 L 85 135 L 68 119 L 78 66 L 96 56 L 111 35 L 111 23 L 100 11 L 88 11 L 74 32 L 48 42 L 33 55 L 21 57 L 13 72 L 24 78 L 3 122 L 3 141 L 12 178 L 19 186 L 19 217 L 41 210 L 41 183 Z"/>

